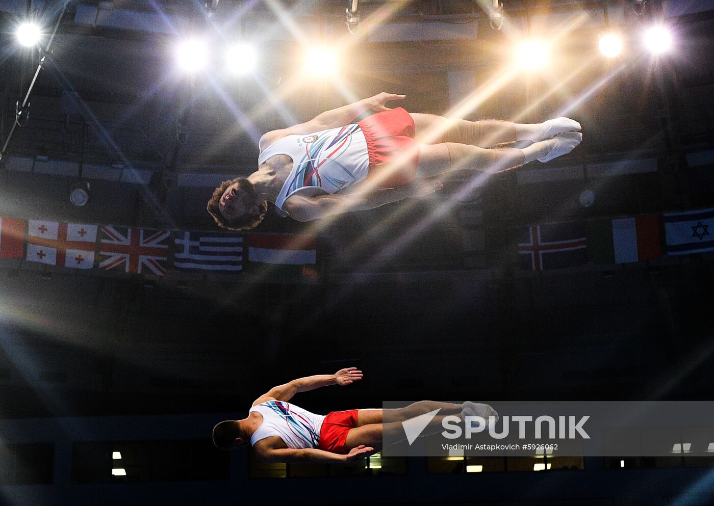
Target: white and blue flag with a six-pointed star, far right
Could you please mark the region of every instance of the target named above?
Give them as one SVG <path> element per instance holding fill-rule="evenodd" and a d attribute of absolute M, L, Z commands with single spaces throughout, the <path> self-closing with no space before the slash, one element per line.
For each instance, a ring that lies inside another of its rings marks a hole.
<path fill-rule="evenodd" d="M 714 208 L 662 215 L 668 255 L 714 251 Z"/>

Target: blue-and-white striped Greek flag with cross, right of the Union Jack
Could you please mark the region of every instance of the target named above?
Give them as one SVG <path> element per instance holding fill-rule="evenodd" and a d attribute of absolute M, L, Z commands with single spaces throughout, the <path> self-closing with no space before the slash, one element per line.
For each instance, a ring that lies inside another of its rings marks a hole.
<path fill-rule="evenodd" d="M 236 272 L 243 269 L 243 236 L 220 232 L 174 232 L 178 270 Z"/>

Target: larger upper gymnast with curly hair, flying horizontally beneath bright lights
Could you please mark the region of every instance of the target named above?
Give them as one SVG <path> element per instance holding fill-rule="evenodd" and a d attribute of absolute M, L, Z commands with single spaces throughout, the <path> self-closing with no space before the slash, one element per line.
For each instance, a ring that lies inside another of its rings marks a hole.
<path fill-rule="evenodd" d="M 583 140 L 580 123 L 569 118 L 467 121 L 386 106 L 402 98 L 379 93 L 266 133 L 258 145 L 258 170 L 224 181 L 208 212 L 235 231 L 255 228 L 268 202 L 295 220 L 311 221 L 428 195 L 442 186 L 437 176 L 450 171 L 498 173 L 549 161 Z M 356 121 L 368 112 L 373 114 Z M 519 141 L 530 145 L 501 147 Z M 350 193 L 336 194 L 348 187 Z"/>

